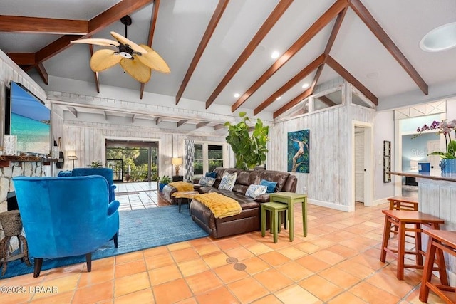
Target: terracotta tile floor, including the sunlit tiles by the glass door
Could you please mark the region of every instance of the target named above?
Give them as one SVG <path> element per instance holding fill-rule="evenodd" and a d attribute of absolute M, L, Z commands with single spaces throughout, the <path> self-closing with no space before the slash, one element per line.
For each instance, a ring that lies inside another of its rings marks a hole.
<path fill-rule="evenodd" d="M 123 207 L 166 204 L 144 184 L 118 187 Z M 386 205 L 351 213 L 309 205 L 306 238 L 295 208 L 293 242 L 285 230 L 275 244 L 254 231 L 150 248 L 93 261 L 91 273 L 81 263 L 0 280 L 26 290 L 0 293 L 0 303 L 420 303 L 422 271 L 398 281 L 395 261 L 379 261 Z M 429 303 L 441 302 L 431 293 Z"/>

